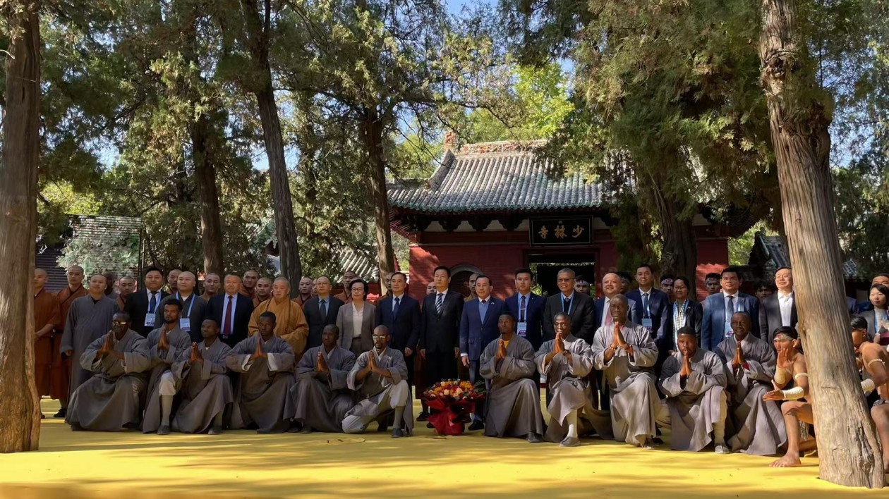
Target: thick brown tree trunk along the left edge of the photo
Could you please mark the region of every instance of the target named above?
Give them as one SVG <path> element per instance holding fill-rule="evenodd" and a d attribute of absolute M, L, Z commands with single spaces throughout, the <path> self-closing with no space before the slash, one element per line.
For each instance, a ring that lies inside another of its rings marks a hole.
<path fill-rule="evenodd" d="M 40 399 L 34 380 L 34 242 L 40 157 L 39 2 L 4 5 L 4 157 L 0 166 L 0 452 L 36 450 Z M 23 334 L 24 333 L 24 334 Z"/>

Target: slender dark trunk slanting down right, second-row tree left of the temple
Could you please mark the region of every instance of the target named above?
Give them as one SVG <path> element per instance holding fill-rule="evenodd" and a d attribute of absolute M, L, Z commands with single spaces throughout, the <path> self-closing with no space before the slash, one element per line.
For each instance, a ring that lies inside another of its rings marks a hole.
<path fill-rule="evenodd" d="M 254 75 L 259 83 L 251 83 L 256 102 L 260 107 L 262 137 L 268 156 L 268 173 L 272 186 L 272 209 L 275 211 L 275 232 L 278 241 L 278 257 L 281 275 L 291 281 L 291 296 L 299 294 L 298 284 L 302 277 L 300 247 L 293 225 L 293 200 L 290 194 L 290 178 L 287 163 L 284 161 L 284 139 L 281 135 L 281 121 L 278 119 L 275 103 L 275 89 L 272 87 L 271 66 L 268 63 L 268 33 L 271 30 L 271 0 L 262 2 L 260 11 L 255 0 L 241 0 L 244 15 L 244 42 L 250 50 Z"/>

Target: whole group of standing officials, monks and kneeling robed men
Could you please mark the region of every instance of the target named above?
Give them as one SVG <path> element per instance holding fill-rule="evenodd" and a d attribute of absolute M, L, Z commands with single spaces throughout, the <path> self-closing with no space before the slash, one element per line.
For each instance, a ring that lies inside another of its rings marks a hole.
<path fill-rule="evenodd" d="M 742 293 L 728 267 L 716 284 L 708 276 L 701 303 L 685 277 L 655 289 L 650 265 L 638 267 L 635 289 L 626 275 L 605 273 L 597 299 L 571 269 L 557 274 L 549 297 L 533 293 L 532 271 L 519 269 L 505 300 L 482 274 L 464 297 L 439 266 L 422 303 L 406 294 L 400 272 L 385 276 L 388 293 L 376 300 L 354 273 L 337 296 L 329 278 L 303 278 L 295 298 L 286 279 L 253 271 L 226 275 L 221 291 L 208 274 L 203 295 L 193 273 L 172 271 L 166 286 L 156 268 L 142 276 L 144 287 L 122 279 L 108 293 L 102 274 L 84 289 L 75 265 L 53 296 L 36 270 L 37 385 L 60 399 L 56 416 L 73 430 L 364 432 L 376 422 L 402 437 L 413 431 L 412 384 L 420 397 L 462 371 L 487 388 L 468 422 L 488 436 L 572 447 L 596 434 L 653 448 L 666 427 L 670 448 L 784 452 L 776 466 L 797 465 L 814 447 L 800 424 L 813 424 L 813 395 L 786 267 L 761 299 Z M 876 398 L 884 448 L 887 286 L 880 274 L 869 303 L 849 299 L 861 386 Z M 428 415 L 423 405 L 416 420 Z"/>

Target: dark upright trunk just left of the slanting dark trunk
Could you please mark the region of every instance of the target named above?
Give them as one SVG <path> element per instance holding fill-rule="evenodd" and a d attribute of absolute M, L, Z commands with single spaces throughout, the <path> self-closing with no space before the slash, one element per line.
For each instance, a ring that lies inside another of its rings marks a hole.
<path fill-rule="evenodd" d="M 216 165 L 213 160 L 210 118 L 200 115 L 188 127 L 191 134 L 191 156 L 195 162 L 197 196 L 201 202 L 201 243 L 204 246 L 204 273 L 222 275 L 222 223 L 220 194 L 216 187 Z"/>

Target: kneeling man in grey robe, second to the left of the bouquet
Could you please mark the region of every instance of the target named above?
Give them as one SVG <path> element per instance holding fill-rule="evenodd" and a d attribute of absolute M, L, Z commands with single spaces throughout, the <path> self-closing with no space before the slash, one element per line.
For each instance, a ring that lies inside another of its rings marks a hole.
<path fill-rule="evenodd" d="M 296 410 L 293 419 L 302 424 L 302 433 L 342 432 L 342 420 L 355 405 L 355 392 L 347 383 L 355 353 L 340 347 L 339 340 L 336 324 L 324 326 L 321 346 L 309 348 L 296 366 L 290 396 Z"/>

